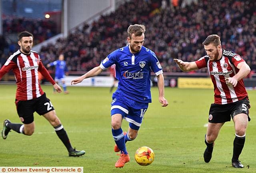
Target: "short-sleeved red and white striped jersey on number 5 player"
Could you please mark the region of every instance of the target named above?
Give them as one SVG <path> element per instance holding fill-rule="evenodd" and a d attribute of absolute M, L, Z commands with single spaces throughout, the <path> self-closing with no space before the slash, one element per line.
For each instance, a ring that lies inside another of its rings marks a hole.
<path fill-rule="evenodd" d="M 208 56 L 196 61 L 198 69 L 208 68 L 214 85 L 214 103 L 216 104 L 236 102 L 248 95 L 243 80 L 238 81 L 236 87 L 227 85 L 225 81 L 225 78 L 233 77 L 238 73 L 237 65 L 244 60 L 232 51 L 222 50 L 222 58 L 218 61 L 211 62 Z"/>

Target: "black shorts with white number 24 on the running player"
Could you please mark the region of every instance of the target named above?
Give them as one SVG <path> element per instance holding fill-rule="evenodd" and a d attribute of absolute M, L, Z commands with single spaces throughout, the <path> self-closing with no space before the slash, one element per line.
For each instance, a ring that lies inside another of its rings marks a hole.
<path fill-rule="evenodd" d="M 37 112 L 39 115 L 44 115 L 54 110 L 50 99 L 46 97 L 45 93 L 36 99 L 16 100 L 15 103 L 20 121 L 24 124 L 29 124 L 34 121 L 34 112 Z"/>

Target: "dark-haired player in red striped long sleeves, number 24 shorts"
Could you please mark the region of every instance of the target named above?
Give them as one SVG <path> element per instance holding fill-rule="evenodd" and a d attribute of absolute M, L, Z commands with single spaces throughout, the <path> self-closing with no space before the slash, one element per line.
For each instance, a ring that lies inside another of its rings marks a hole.
<path fill-rule="evenodd" d="M 54 127 L 58 137 L 67 148 L 69 156 L 84 155 L 85 151 L 77 151 L 71 146 L 50 99 L 46 97 L 46 93 L 40 86 L 38 72 L 53 85 L 58 93 L 62 92 L 60 86 L 54 82 L 43 66 L 39 54 L 31 50 L 33 35 L 27 31 L 21 32 L 18 35 L 18 44 L 20 50 L 10 56 L 0 69 L 0 80 L 4 74 L 13 70 L 17 84 L 16 109 L 23 124 L 11 123 L 8 119 L 4 120 L 1 131 L 2 138 L 6 139 L 10 130 L 24 135 L 32 135 L 35 129 L 34 112 L 37 112 Z"/>

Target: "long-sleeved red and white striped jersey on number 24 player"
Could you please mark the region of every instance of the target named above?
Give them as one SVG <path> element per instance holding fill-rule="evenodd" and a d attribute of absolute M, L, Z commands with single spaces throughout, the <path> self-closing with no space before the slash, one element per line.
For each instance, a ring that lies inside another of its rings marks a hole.
<path fill-rule="evenodd" d="M 41 72 L 53 85 L 55 84 L 43 66 L 39 54 L 34 51 L 31 51 L 30 54 L 24 54 L 18 50 L 10 56 L 0 70 L 0 79 L 10 70 L 13 70 L 16 79 L 17 100 L 35 99 L 44 93 L 38 80 L 38 72 Z"/>

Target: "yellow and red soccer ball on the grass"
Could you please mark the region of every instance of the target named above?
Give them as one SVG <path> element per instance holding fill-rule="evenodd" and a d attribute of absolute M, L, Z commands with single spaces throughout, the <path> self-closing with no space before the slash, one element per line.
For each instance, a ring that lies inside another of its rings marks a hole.
<path fill-rule="evenodd" d="M 154 151 L 150 147 L 140 147 L 135 153 L 135 160 L 139 165 L 148 166 L 154 161 Z"/>

